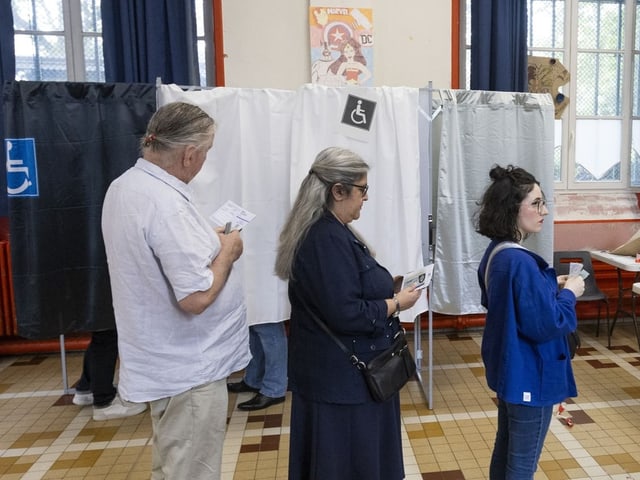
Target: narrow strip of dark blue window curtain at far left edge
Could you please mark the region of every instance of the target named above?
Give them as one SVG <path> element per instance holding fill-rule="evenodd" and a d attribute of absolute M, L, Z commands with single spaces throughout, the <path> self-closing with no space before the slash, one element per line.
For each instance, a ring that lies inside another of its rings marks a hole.
<path fill-rule="evenodd" d="M 11 82 L 16 76 L 16 55 L 13 41 L 13 13 L 11 12 L 11 0 L 0 0 L 0 93 L 5 84 Z M 4 98 L 4 94 L 3 94 Z M 2 102 L 4 112 L 4 101 Z M 4 113 L 0 116 L 0 141 L 3 152 L 0 161 L 0 217 L 6 217 L 8 213 L 7 205 L 7 174 L 6 157 L 4 148 Z"/>

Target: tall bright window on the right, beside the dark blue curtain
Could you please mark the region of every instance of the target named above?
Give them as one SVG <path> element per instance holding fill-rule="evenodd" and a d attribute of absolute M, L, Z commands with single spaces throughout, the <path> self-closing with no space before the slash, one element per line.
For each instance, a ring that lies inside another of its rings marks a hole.
<path fill-rule="evenodd" d="M 569 104 L 555 120 L 557 189 L 640 186 L 639 5 L 640 0 L 527 0 L 529 54 L 555 58 L 570 73 L 560 88 Z M 468 0 L 467 26 L 470 14 Z M 468 27 L 466 35 L 468 59 Z"/>

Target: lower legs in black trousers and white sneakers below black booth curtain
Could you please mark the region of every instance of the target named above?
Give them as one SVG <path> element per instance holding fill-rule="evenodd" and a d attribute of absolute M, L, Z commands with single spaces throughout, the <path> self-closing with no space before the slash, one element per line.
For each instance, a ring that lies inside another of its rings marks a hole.
<path fill-rule="evenodd" d="M 84 352 L 82 374 L 72 402 L 80 406 L 93 405 L 93 419 L 96 421 L 130 417 L 147 409 L 144 403 L 130 403 L 118 395 L 113 385 L 117 362 L 116 329 L 91 332 L 91 341 Z"/>

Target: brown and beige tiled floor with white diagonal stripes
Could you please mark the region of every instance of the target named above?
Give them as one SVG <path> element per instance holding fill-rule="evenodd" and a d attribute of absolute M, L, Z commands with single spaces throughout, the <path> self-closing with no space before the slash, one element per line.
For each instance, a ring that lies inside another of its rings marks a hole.
<path fill-rule="evenodd" d="M 579 396 L 554 418 L 536 480 L 640 480 L 640 353 L 628 320 L 606 335 L 581 326 L 574 359 Z M 481 331 L 434 334 L 433 410 L 421 385 L 401 393 L 407 480 L 486 479 L 496 408 L 480 361 Z M 423 347 L 425 358 L 428 354 Z M 67 354 L 70 382 L 81 353 Z M 236 375 L 239 377 L 239 374 Z M 426 381 L 427 372 L 423 370 Z M 64 395 L 59 355 L 0 356 L 0 478 L 148 479 L 148 411 L 107 422 Z M 224 479 L 286 479 L 290 402 L 261 412 L 235 409 L 231 395 Z M 327 479 L 331 480 L 331 479 Z"/>

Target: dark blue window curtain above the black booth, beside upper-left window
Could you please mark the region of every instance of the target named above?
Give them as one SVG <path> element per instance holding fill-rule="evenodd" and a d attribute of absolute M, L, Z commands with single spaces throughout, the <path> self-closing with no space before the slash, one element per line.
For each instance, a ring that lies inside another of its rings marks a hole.
<path fill-rule="evenodd" d="M 200 85 L 194 0 L 102 0 L 107 82 Z"/>

